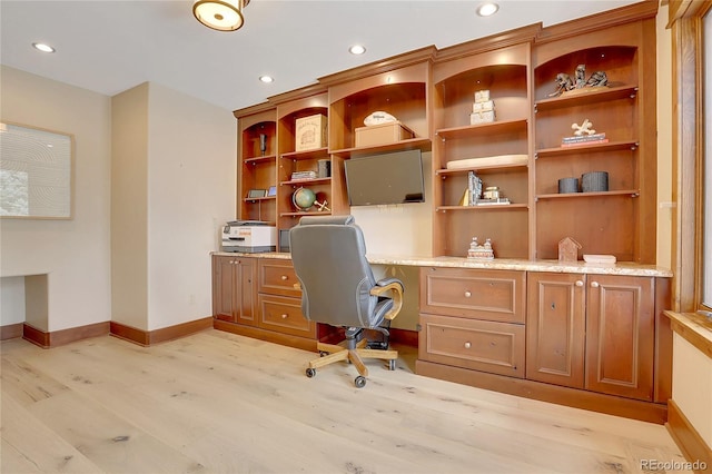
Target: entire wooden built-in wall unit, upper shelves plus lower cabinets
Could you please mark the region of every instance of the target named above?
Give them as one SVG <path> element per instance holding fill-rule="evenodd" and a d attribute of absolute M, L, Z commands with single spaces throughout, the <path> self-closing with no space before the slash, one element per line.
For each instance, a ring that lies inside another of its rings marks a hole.
<path fill-rule="evenodd" d="M 431 169 L 424 170 L 432 180 L 432 227 L 423 230 L 432 231 L 433 257 L 464 258 L 476 236 L 492 239 L 497 259 L 556 260 L 558 243 L 570 237 L 582 254 L 654 265 L 656 11 L 657 2 L 646 1 L 552 27 L 537 23 L 423 48 L 237 110 L 238 218 L 291 228 L 300 216 L 318 214 L 294 208 L 299 186 L 328 201 L 326 214 L 348 214 L 345 160 L 421 149 L 432 154 Z M 556 76 L 573 78 L 580 65 L 586 79 L 604 71 L 606 87 L 556 95 Z M 490 91 L 494 122 L 471 125 L 478 90 Z M 415 137 L 357 147 L 356 128 L 379 110 Z M 295 120 L 317 113 L 328 117 L 328 145 L 296 151 Z M 572 124 L 586 119 L 607 141 L 562 147 Z M 260 135 L 267 136 L 264 152 Z M 502 156 L 524 160 L 471 161 Z M 316 170 L 322 159 L 330 160 L 332 177 L 291 180 L 291 172 Z M 511 204 L 463 206 L 469 171 L 485 187 L 497 186 Z M 607 190 L 558 192 L 558 179 L 581 180 L 591 171 L 607 172 Z M 270 186 L 276 196 L 247 197 L 249 189 Z M 424 267 L 418 373 L 592 409 L 610 404 L 612 413 L 625 416 L 640 417 L 637 412 L 653 406 L 646 418 L 664 421 L 670 332 L 660 315 L 670 285 L 659 277 L 604 274 Z M 220 285 L 225 293 L 231 284 Z M 243 288 L 255 292 L 245 300 L 259 302 L 258 326 L 317 337 L 312 327 L 284 324 L 293 320 L 294 294 L 260 285 Z M 221 309 L 220 295 L 217 320 L 236 322 L 240 310 Z"/>

